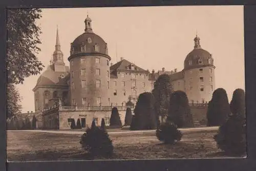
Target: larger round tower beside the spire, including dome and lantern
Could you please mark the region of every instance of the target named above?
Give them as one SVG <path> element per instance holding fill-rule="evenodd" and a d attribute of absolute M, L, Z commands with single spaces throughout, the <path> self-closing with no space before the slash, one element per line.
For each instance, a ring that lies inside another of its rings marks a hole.
<path fill-rule="evenodd" d="M 71 43 L 71 105 L 109 106 L 110 56 L 106 42 L 93 33 L 87 15 L 84 33 Z"/>

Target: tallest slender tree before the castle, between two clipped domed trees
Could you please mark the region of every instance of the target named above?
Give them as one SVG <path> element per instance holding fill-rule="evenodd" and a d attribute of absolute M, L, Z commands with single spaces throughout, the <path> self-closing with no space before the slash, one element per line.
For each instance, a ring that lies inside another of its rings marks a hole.
<path fill-rule="evenodd" d="M 168 113 L 170 95 L 172 93 L 172 86 L 170 84 L 170 77 L 167 74 L 160 75 L 154 84 L 152 93 L 155 97 L 155 110 L 157 118 L 165 117 Z M 162 119 L 163 121 L 163 119 Z"/>

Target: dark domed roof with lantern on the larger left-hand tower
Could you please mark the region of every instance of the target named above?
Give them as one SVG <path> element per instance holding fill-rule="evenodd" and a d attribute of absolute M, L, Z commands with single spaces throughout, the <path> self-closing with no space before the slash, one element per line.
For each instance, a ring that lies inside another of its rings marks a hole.
<path fill-rule="evenodd" d="M 84 20 L 84 23 L 86 25 L 84 33 L 75 38 L 75 40 L 71 43 L 70 57 L 75 54 L 84 53 L 96 53 L 108 56 L 108 44 L 100 36 L 93 32 L 92 20 L 88 15 L 86 20 Z"/>

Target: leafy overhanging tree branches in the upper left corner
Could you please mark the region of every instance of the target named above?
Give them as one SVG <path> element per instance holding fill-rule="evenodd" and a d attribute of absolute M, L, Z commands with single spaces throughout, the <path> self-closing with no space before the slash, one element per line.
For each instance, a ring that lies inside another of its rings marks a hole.
<path fill-rule="evenodd" d="M 40 28 L 36 20 L 40 9 L 9 9 L 7 11 L 7 74 L 8 83 L 19 84 L 24 78 L 37 75 L 44 65 L 34 55 L 40 51 Z"/>

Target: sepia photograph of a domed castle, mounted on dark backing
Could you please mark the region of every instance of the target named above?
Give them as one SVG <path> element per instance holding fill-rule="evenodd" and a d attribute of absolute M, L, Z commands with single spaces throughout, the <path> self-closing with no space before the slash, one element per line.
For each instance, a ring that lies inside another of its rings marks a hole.
<path fill-rule="evenodd" d="M 243 6 L 6 20 L 8 162 L 246 158 Z"/>

